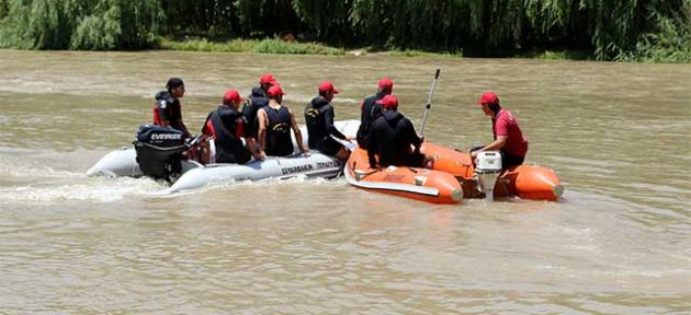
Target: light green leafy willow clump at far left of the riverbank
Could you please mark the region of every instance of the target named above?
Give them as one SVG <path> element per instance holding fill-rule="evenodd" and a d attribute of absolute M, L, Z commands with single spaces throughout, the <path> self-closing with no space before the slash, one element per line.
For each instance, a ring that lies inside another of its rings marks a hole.
<path fill-rule="evenodd" d="M 154 47 L 163 19 L 158 0 L 0 0 L 0 47 Z"/>

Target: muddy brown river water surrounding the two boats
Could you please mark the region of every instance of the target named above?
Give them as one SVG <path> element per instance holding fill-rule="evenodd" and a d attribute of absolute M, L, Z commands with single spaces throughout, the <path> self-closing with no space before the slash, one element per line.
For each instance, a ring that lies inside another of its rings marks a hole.
<path fill-rule="evenodd" d="M 171 75 L 191 129 L 267 71 L 298 113 L 332 80 L 337 119 L 388 75 L 419 126 L 435 68 L 427 140 L 490 141 L 495 90 L 562 201 L 84 175 Z M 691 65 L 0 50 L 0 314 L 689 314 L 690 135 Z"/>

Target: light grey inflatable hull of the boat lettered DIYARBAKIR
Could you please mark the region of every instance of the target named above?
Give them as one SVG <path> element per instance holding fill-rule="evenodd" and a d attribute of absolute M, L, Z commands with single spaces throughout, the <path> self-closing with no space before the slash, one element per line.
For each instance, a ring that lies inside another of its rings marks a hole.
<path fill-rule="evenodd" d="M 359 120 L 336 121 L 336 127 L 348 137 L 355 137 Z M 304 145 L 307 147 L 307 130 L 301 128 Z M 294 153 L 298 153 L 293 137 Z M 247 164 L 209 164 L 202 166 L 195 162 L 182 162 L 183 174 L 170 187 L 171 192 L 205 186 L 211 183 L 229 183 L 236 180 L 260 180 L 265 178 L 286 178 L 294 176 L 335 177 L 340 165 L 335 158 L 313 151 L 302 156 L 269 158 L 264 161 L 252 161 Z M 141 171 L 136 160 L 134 148 L 123 148 L 107 153 L 89 171 L 89 176 L 131 176 L 140 177 Z"/>

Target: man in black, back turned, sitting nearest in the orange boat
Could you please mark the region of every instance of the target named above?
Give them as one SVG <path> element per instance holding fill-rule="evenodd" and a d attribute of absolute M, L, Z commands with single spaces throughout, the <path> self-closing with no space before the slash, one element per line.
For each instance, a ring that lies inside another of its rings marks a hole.
<path fill-rule="evenodd" d="M 398 112 L 398 98 L 386 95 L 378 104 L 384 112 L 370 128 L 367 140 L 370 167 L 377 168 L 377 165 L 423 167 L 431 162 L 431 159 L 420 152 L 424 139 L 415 131 L 412 122 Z"/>

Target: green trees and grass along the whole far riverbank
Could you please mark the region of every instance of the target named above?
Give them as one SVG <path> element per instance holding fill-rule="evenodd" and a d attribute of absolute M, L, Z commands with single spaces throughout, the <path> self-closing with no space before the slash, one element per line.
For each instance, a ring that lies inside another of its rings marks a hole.
<path fill-rule="evenodd" d="M 0 47 L 691 62 L 691 1 L 0 0 Z"/>

